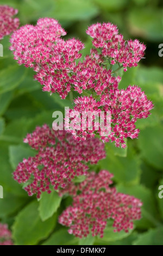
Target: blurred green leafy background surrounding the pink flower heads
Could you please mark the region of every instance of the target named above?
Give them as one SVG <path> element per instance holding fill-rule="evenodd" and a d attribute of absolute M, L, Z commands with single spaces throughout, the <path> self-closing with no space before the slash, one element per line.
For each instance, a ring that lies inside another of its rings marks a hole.
<path fill-rule="evenodd" d="M 96 169 L 114 173 L 118 191 L 134 195 L 143 202 L 142 219 L 129 233 L 113 233 L 108 225 L 103 239 L 91 236 L 79 240 L 58 224 L 58 215 L 70 202 L 62 201 L 54 191 L 43 194 L 39 202 L 28 197 L 12 179 L 12 172 L 31 151 L 22 139 L 36 125 L 52 126 L 52 113 L 64 111 L 68 100 L 42 92 L 33 80 L 33 71 L 18 66 L 8 50 L 9 36 L 1 44 L 0 57 L 0 221 L 12 229 L 16 245 L 163 245 L 163 198 L 158 187 L 163 185 L 163 57 L 158 56 L 163 44 L 163 8 L 159 0 L 0 0 L 19 10 L 21 25 L 35 24 L 39 17 L 58 19 L 72 36 L 85 42 L 89 53 L 91 40 L 85 31 L 95 22 L 113 22 L 124 38 L 138 38 L 147 45 L 146 59 L 137 68 L 123 74 L 120 88 L 140 86 L 154 102 L 152 115 L 137 121 L 139 139 L 128 139 L 127 150 L 106 144 L 107 157 Z"/>

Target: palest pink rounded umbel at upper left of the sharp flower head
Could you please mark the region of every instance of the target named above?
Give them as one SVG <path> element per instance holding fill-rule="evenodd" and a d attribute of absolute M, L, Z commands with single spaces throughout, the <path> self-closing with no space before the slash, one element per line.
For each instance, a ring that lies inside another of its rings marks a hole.
<path fill-rule="evenodd" d="M 50 61 L 55 44 L 66 32 L 58 21 L 42 18 L 37 25 L 25 25 L 11 35 L 10 50 L 14 51 L 14 59 L 27 68 Z"/>

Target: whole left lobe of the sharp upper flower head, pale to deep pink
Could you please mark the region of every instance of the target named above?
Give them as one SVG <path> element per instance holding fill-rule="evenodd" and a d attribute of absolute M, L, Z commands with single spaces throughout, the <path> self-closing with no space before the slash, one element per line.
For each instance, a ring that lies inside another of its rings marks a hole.
<path fill-rule="evenodd" d="M 42 18 L 36 26 L 26 25 L 11 36 L 10 50 L 18 64 L 33 68 L 43 90 L 58 92 L 65 99 L 71 90 L 70 72 L 84 48 L 77 39 L 61 39 L 66 32 L 57 20 Z"/>

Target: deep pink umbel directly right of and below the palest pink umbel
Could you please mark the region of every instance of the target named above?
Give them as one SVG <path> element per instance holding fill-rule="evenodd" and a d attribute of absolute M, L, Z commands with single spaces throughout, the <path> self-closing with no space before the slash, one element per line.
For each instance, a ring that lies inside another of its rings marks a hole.
<path fill-rule="evenodd" d="M 74 60 L 80 58 L 79 53 L 84 45 L 77 39 L 64 41 L 58 40 L 54 47 L 48 64 L 36 66 L 35 79 L 43 85 L 43 90 L 51 93 L 58 92 L 62 99 L 65 99 L 71 90 L 70 72 L 76 66 Z"/>

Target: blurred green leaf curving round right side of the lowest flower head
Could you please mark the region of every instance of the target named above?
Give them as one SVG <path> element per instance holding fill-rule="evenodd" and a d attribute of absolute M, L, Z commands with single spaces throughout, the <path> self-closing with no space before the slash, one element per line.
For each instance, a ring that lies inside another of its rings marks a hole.
<path fill-rule="evenodd" d="M 149 227 L 154 227 L 155 225 L 159 225 L 159 222 L 156 218 L 156 203 L 151 190 L 142 185 L 126 187 L 123 185 L 118 185 L 117 190 L 118 192 L 130 194 L 131 196 L 139 198 L 143 203 L 141 207 L 142 218 L 141 220 L 137 220 L 134 222 L 137 228 L 145 229 Z"/>

